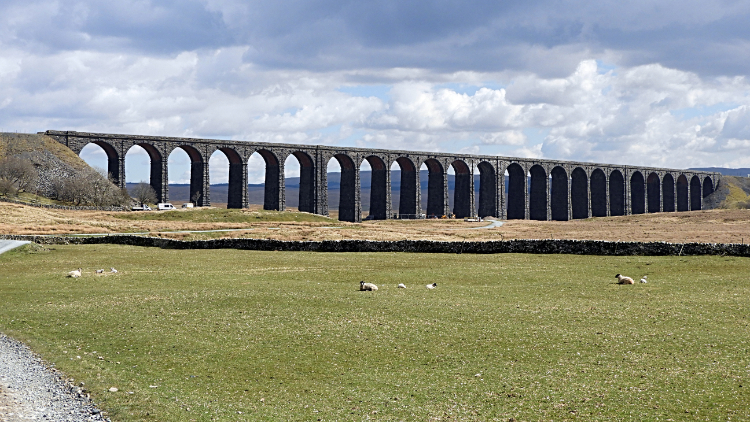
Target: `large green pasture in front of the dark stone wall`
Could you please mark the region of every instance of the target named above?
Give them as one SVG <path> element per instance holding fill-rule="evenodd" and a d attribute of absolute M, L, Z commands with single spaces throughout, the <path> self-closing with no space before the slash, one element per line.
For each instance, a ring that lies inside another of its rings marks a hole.
<path fill-rule="evenodd" d="M 747 420 L 748 273 L 728 257 L 54 246 L 0 255 L 0 330 L 115 421 Z"/>

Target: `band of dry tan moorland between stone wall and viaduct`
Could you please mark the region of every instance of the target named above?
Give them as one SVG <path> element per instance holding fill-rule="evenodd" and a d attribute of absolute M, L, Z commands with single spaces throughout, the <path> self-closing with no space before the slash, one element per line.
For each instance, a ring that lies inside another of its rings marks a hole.
<path fill-rule="evenodd" d="M 250 211 L 246 211 L 250 212 Z M 711 210 L 684 213 L 643 214 L 574 221 L 510 220 L 499 228 L 464 230 L 487 223 L 456 220 L 367 221 L 361 224 L 335 220 L 321 223 L 194 223 L 131 221 L 114 213 L 58 211 L 0 203 L 0 234 L 71 234 L 150 232 L 171 238 L 253 237 L 280 240 L 320 239 L 595 239 L 667 242 L 750 242 L 750 210 Z M 170 234 L 174 230 L 243 228 L 246 231 Z"/>

